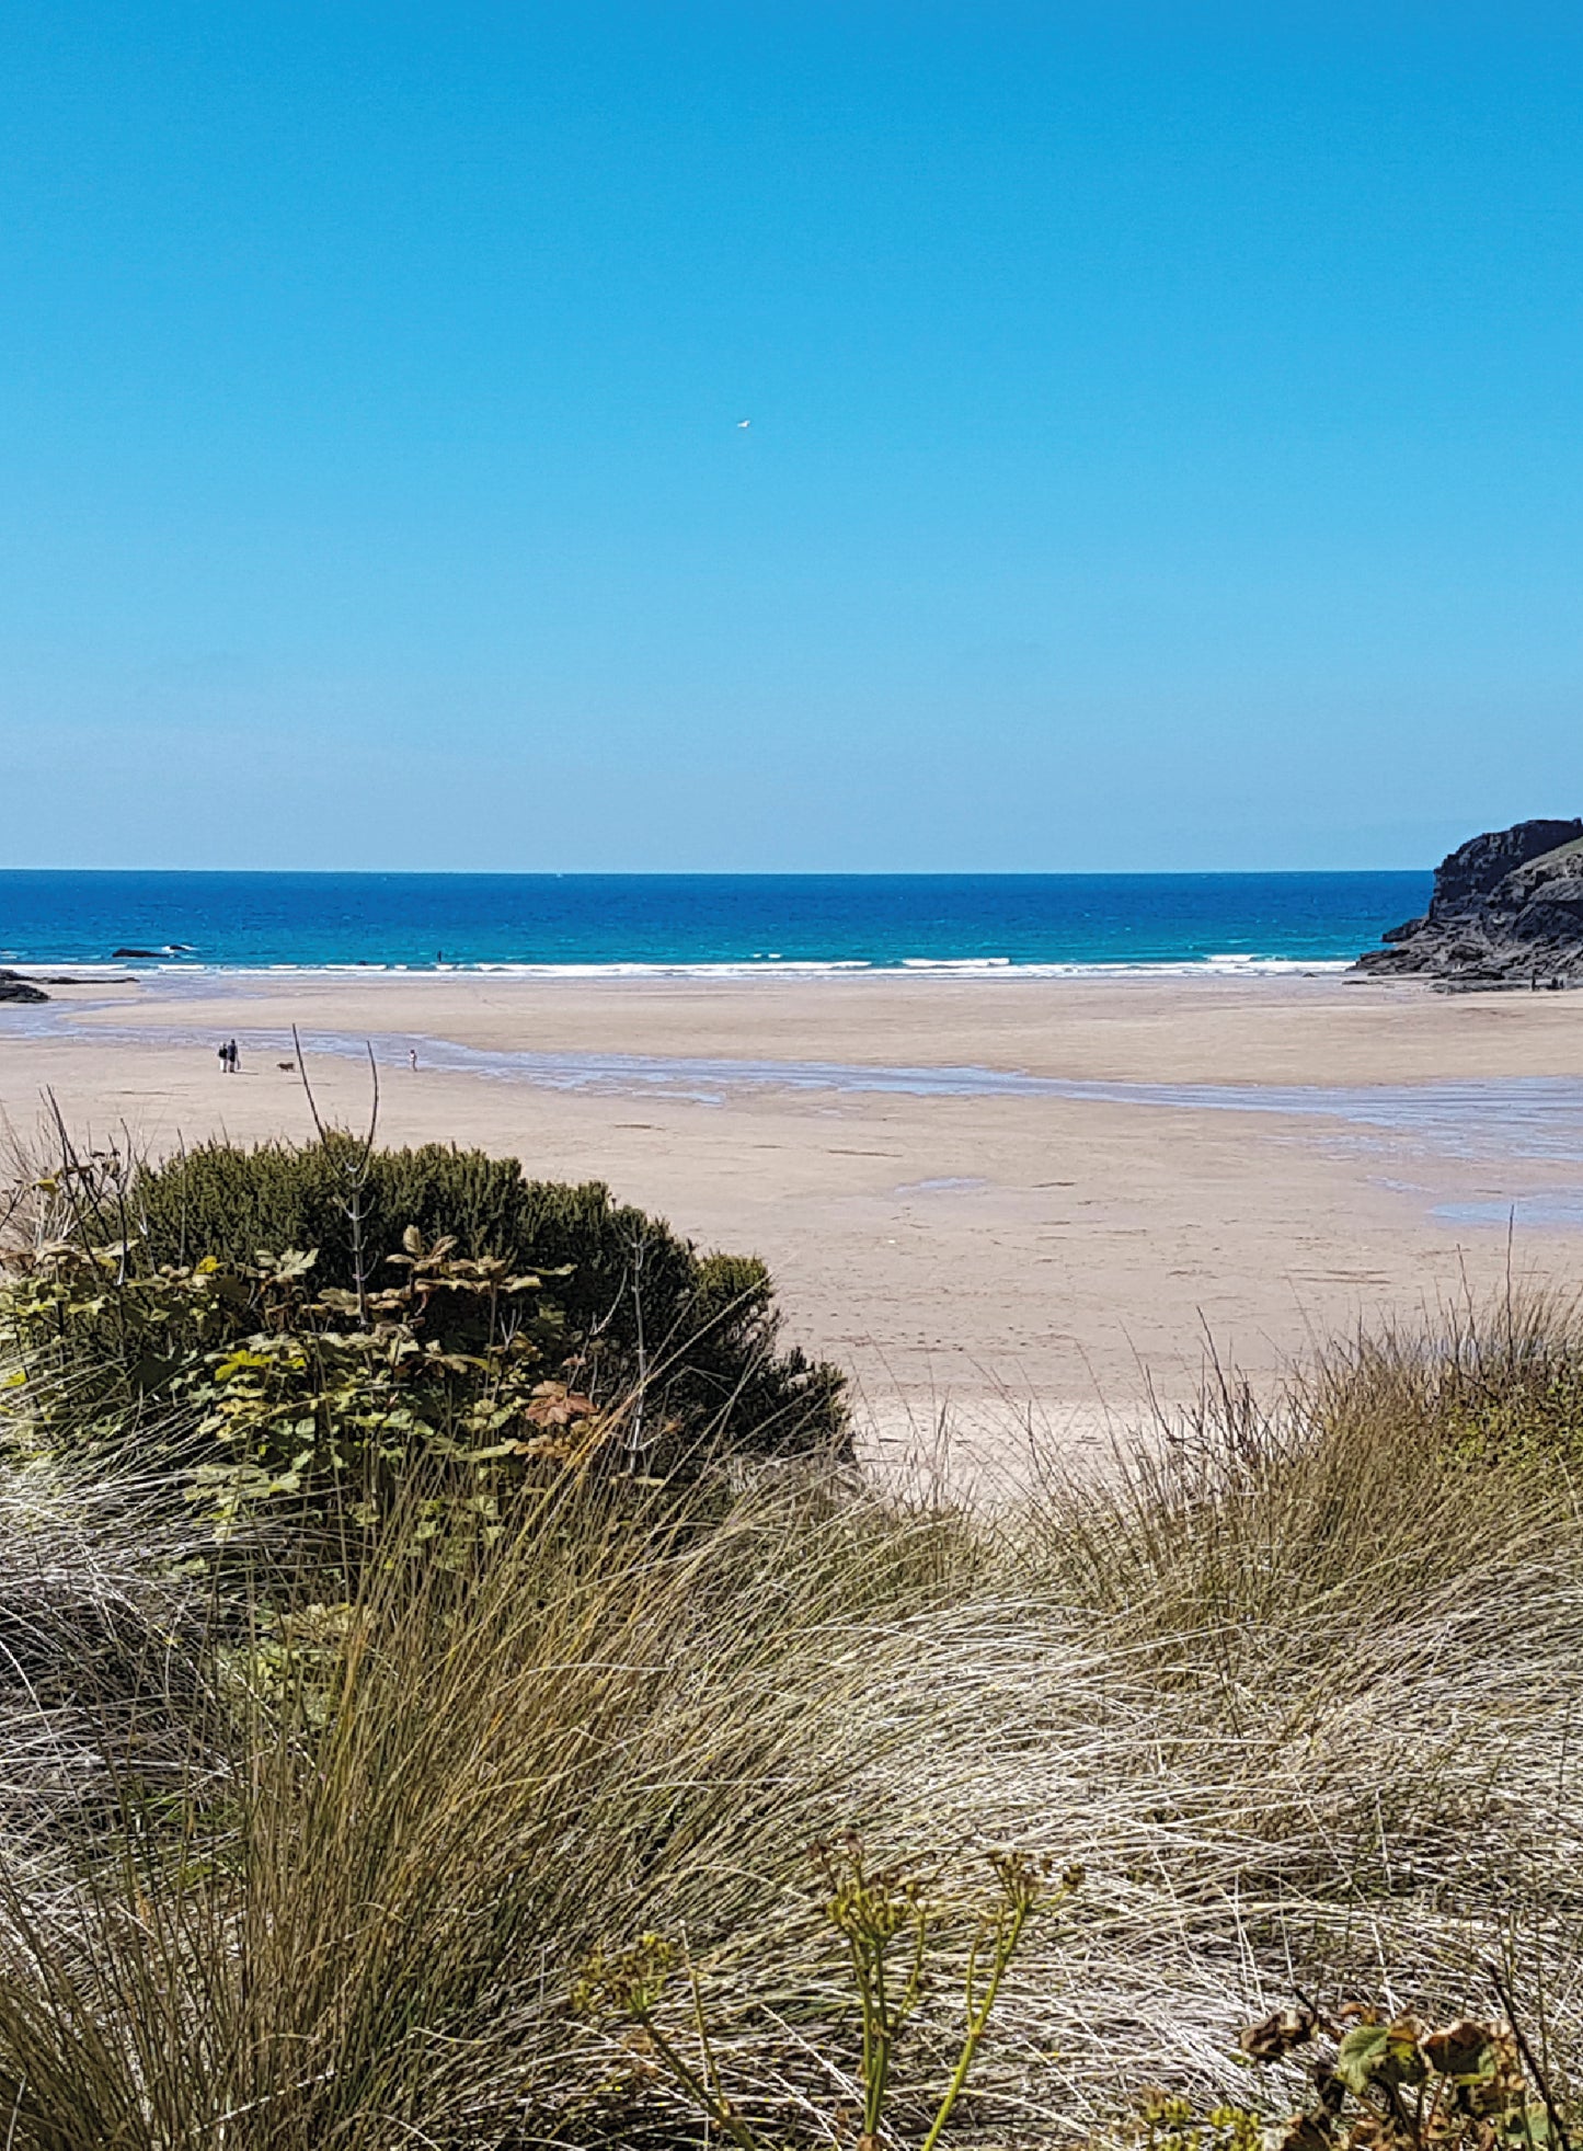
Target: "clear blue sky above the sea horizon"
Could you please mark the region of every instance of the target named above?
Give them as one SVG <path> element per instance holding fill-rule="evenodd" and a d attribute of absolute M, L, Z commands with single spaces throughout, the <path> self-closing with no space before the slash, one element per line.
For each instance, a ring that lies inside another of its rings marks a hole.
<path fill-rule="evenodd" d="M 1583 811 L 1574 6 L 0 22 L 9 865 Z"/>

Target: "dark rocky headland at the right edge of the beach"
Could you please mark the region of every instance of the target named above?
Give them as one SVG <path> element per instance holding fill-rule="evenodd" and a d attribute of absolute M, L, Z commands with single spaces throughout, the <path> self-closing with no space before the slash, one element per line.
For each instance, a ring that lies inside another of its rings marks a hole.
<path fill-rule="evenodd" d="M 1443 985 L 1583 985 L 1583 822 L 1518 822 L 1435 869 L 1422 918 L 1392 927 L 1357 968 Z"/>

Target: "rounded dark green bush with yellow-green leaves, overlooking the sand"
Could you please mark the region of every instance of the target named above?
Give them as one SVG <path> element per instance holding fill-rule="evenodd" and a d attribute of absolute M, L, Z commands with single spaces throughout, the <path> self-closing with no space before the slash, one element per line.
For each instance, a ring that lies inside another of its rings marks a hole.
<path fill-rule="evenodd" d="M 329 1134 L 69 1157 L 43 1185 L 65 1237 L 13 1260 L 0 1308 L 34 1420 L 163 1454 L 196 1433 L 226 1525 L 331 1486 L 368 1521 L 419 1454 L 493 1514 L 544 1463 L 675 1478 L 845 1448 L 841 1374 L 781 1347 L 764 1263 L 600 1183 Z"/>

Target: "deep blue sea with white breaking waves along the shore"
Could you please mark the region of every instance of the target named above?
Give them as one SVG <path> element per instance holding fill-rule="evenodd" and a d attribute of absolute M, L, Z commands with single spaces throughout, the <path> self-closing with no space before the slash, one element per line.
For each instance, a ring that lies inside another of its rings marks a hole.
<path fill-rule="evenodd" d="M 1428 873 L 0 871 L 0 961 L 1286 968 L 1351 961 L 1428 893 Z"/>

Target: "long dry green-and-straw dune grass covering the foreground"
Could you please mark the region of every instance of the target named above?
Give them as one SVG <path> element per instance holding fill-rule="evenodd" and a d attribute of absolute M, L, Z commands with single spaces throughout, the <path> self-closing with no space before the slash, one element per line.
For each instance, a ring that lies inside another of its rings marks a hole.
<path fill-rule="evenodd" d="M 572 2007 L 598 1947 L 658 1929 L 733 2097 L 828 2142 L 856 2015 L 807 1850 L 850 1826 L 940 1906 L 903 2129 L 996 1848 L 1088 1880 L 1030 1925 L 957 2140 L 1090 2136 L 1144 2084 L 1245 2095 L 1237 2026 L 1295 1988 L 1488 2011 L 1491 1957 L 1564 2059 L 1581 1364 L 1544 1308 L 1387 1338 L 989 1516 L 783 1478 L 682 1510 L 568 1488 L 469 1570 L 391 1538 L 355 1605 L 299 1594 L 183 1646 L 196 1686 L 166 1699 L 219 1684 L 224 1772 L 209 1701 L 161 1803 L 108 1721 L 138 1803 L 67 1835 L 47 1886 L 9 1863 L 0 2127 L 17 2151 L 701 2140 Z M 157 1547 L 133 1570 L 172 1587 Z"/>

